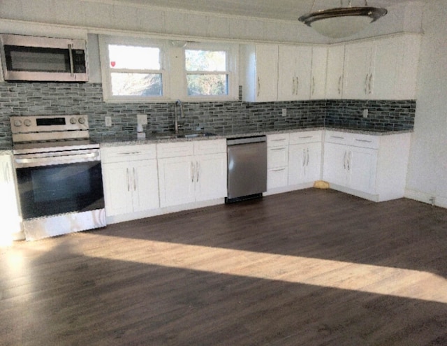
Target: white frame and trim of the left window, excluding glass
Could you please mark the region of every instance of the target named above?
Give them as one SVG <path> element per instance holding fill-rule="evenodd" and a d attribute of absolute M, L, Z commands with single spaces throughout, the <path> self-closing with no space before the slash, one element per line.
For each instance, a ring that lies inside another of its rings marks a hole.
<path fill-rule="evenodd" d="M 103 99 L 108 102 L 117 103 L 143 103 L 143 102 L 159 102 L 167 101 L 169 99 L 169 73 L 166 69 L 168 66 L 168 50 L 166 48 L 166 41 L 150 39 L 150 38 L 133 38 L 121 36 L 99 36 L 99 52 L 101 63 L 101 78 L 103 82 Z M 129 45 L 136 47 L 159 48 L 160 50 L 160 70 L 153 69 L 112 69 L 109 66 L 109 45 Z M 129 71 L 130 73 L 157 73 L 161 74 L 161 95 L 160 96 L 140 96 L 140 95 L 113 95 L 111 75 L 116 72 Z"/>

